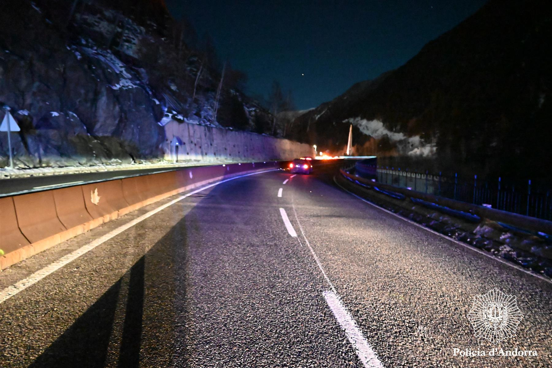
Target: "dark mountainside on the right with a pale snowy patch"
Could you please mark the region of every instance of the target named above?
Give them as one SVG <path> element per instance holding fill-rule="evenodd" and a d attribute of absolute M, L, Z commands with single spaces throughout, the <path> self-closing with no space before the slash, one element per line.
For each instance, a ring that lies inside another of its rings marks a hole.
<path fill-rule="evenodd" d="M 343 147 L 353 124 L 362 153 L 428 156 L 481 174 L 546 176 L 550 9 L 536 0 L 491 0 L 404 66 L 355 84 L 294 125 L 319 145 Z"/>

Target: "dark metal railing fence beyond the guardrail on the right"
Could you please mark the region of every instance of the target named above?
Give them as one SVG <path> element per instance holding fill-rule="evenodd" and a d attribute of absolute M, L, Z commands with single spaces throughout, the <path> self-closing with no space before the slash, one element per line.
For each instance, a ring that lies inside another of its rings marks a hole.
<path fill-rule="evenodd" d="M 552 220 L 550 189 L 537 188 L 531 180 L 525 185 L 505 183 L 501 178 L 481 180 L 444 177 L 429 173 L 410 172 L 392 167 L 375 166 L 378 182 L 439 195 L 516 214 Z"/>

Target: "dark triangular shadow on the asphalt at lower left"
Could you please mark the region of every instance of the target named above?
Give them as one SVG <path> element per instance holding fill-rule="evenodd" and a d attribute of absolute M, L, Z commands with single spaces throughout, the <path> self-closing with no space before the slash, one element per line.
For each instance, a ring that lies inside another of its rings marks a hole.
<path fill-rule="evenodd" d="M 188 333 L 185 327 L 187 307 L 184 302 L 176 301 L 183 299 L 187 289 L 187 246 L 186 222 L 182 218 L 29 368 L 104 367 L 114 366 L 115 362 L 121 368 L 134 368 L 143 365 L 141 359 L 144 358 L 147 366 L 168 366 L 174 360 L 185 362 L 187 354 L 180 347 L 177 350 L 183 354 L 175 356 L 171 340 L 176 334 Z M 125 287 L 128 287 L 126 298 L 123 297 Z M 114 326 L 121 326 L 121 323 L 114 323 L 116 310 L 121 308 L 125 310 L 122 334 L 114 331 Z M 146 346 L 148 351 L 155 353 L 146 353 L 147 356 L 144 354 L 146 313 L 155 315 L 155 318 L 150 317 L 153 322 L 148 322 L 152 326 L 149 346 Z M 120 342 L 112 335 L 120 336 Z"/>

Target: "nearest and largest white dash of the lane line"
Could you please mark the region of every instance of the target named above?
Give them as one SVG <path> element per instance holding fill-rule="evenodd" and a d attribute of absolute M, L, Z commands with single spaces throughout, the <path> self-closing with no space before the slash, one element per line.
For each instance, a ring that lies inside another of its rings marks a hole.
<path fill-rule="evenodd" d="M 339 326 L 344 330 L 347 339 L 357 351 L 358 358 L 366 368 L 383 368 L 383 364 L 374 349 L 368 344 L 362 331 L 357 327 L 353 317 L 341 302 L 341 298 L 333 291 L 322 292 L 328 306 L 336 317 Z"/>

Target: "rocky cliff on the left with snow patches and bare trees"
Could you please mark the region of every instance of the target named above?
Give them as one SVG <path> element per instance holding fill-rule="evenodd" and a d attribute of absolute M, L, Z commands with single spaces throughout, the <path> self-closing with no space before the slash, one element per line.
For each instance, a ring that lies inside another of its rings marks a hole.
<path fill-rule="evenodd" d="M 2 4 L 0 107 L 21 127 L 12 134 L 16 166 L 156 161 L 171 119 L 268 128 L 268 113 L 224 84 L 214 120 L 220 73 L 202 66 L 197 52 L 175 38 L 176 23 L 162 1 L 112 4 Z M 7 151 L 7 135 L 0 133 L 0 167 Z"/>

